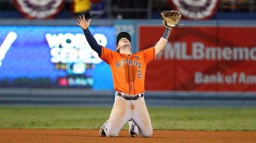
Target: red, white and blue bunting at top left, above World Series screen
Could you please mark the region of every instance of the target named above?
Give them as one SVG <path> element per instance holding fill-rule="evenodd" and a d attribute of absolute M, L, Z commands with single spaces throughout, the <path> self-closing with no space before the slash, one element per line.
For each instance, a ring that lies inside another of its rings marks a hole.
<path fill-rule="evenodd" d="M 63 8 L 65 0 L 14 0 L 27 19 L 53 19 Z"/>

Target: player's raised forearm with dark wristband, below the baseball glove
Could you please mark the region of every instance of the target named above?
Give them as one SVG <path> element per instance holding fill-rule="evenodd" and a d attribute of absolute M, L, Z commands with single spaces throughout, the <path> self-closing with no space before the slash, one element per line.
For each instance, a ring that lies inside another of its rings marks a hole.
<path fill-rule="evenodd" d="M 166 27 L 163 36 L 160 38 L 160 40 L 155 45 L 155 54 L 156 55 L 159 54 L 159 52 L 161 52 L 162 50 L 164 50 L 164 47 L 170 37 L 172 29 L 173 28 L 171 28 L 171 27 Z"/>

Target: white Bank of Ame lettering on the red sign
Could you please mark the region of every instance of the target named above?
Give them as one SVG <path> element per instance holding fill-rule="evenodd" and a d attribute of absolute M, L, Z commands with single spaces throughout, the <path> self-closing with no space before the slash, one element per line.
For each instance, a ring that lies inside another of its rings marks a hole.
<path fill-rule="evenodd" d="M 223 75 L 221 72 L 216 74 L 203 74 L 195 72 L 195 84 L 256 84 L 256 75 L 246 75 L 244 72 L 233 72 Z"/>

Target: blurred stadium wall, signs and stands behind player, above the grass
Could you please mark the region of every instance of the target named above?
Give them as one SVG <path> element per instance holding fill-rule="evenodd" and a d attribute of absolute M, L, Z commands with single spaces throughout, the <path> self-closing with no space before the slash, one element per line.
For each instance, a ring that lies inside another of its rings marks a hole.
<path fill-rule="evenodd" d="M 159 11 L 180 24 L 147 66 L 147 106 L 255 107 L 256 0 L 1 0 L 0 104 L 112 106 L 112 74 L 76 26 L 82 14 L 100 45 L 133 52 L 164 32 Z"/>

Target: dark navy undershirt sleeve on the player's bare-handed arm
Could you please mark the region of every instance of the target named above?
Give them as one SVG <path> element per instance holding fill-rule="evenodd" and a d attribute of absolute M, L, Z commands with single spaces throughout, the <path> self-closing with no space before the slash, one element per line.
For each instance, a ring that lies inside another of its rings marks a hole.
<path fill-rule="evenodd" d="M 83 30 L 83 32 L 89 45 L 92 47 L 93 50 L 95 50 L 95 52 L 97 52 L 101 56 L 102 46 L 97 43 L 97 41 L 95 40 L 95 38 L 93 37 L 88 28 Z"/>

